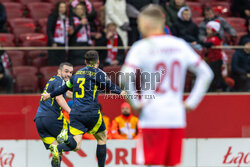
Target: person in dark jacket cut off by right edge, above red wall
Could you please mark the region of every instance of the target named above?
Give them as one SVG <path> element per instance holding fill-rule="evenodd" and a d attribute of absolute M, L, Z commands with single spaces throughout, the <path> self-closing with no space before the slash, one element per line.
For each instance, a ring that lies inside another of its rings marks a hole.
<path fill-rule="evenodd" d="M 242 40 L 244 49 L 238 49 L 232 58 L 232 77 L 235 79 L 235 89 L 250 91 L 250 38 Z"/>

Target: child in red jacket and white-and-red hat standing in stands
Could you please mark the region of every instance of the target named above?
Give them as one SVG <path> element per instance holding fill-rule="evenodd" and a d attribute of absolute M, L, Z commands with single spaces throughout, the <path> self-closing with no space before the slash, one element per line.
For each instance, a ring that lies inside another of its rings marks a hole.
<path fill-rule="evenodd" d="M 222 40 L 219 36 L 220 23 L 216 21 L 209 21 L 206 25 L 206 42 L 204 46 L 207 47 L 206 60 L 210 68 L 213 70 L 214 79 L 210 86 L 210 91 L 226 90 L 227 85 L 222 77 L 222 50 L 210 49 L 212 46 L 221 46 Z"/>

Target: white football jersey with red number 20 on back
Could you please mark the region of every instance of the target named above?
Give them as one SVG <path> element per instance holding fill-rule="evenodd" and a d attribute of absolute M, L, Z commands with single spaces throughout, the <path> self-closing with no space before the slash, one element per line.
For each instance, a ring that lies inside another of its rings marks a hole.
<path fill-rule="evenodd" d="M 212 72 L 200 56 L 182 39 L 159 35 L 136 42 L 130 49 L 122 72 L 141 70 L 143 104 L 142 128 L 183 128 L 186 126 L 183 91 L 187 69 L 197 81 L 186 104 L 195 108 L 212 80 Z M 160 79 L 159 79 L 160 76 Z M 129 94 L 135 94 L 129 87 Z"/>

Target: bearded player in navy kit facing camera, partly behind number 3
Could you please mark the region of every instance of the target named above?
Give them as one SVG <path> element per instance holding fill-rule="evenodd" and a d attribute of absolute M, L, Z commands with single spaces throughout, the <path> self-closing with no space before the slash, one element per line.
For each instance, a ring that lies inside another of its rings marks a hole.
<path fill-rule="evenodd" d="M 73 66 L 70 63 L 61 63 L 57 71 L 57 75 L 50 78 L 44 88 L 45 92 L 52 92 L 69 80 L 73 73 Z M 46 149 L 49 149 L 51 144 L 58 145 L 57 136 L 63 129 L 64 119 L 62 109 L 66 112 L 70 112 L 70 108 L 65 101 L 66 96 L 72 98 L 72 92 L 67 92 L 63 95 L 56 96 L 48 101 L 40 100 L 40 105 L 37 109 L 35 116 L 36 128 L 41 137 Z M 57 164 L 51 162 L 52 167 L 60 166 L 60 162 Z"/>

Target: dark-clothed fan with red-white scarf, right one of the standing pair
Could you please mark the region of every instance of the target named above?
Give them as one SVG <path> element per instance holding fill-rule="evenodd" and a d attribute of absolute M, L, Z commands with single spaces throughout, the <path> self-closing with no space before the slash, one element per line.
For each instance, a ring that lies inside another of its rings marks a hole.
<path fill-rule="evenodd" d="M 70 35 L 70 46 L 91 46 L 90 26 L 86 17 L 85 7 L 79 3 L 74 9 L 74 16 L 70 17 L 70 25 L 74 32 Z M 70 50 L 69 62 L 74 66 L 84 64 L 84 55 L 87 50 Z"/>

